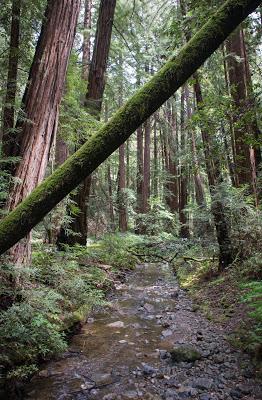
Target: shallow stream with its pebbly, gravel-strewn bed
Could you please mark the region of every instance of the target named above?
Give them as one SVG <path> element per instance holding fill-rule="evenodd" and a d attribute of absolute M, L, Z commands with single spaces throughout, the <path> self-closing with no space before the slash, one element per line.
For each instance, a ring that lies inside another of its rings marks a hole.
<path fill-rule="evenodd" d="M 25 399 L 262 398 L 248 356 L 194 312 L 168 265 L 137 266 L 110 301 L 89 318 L 69 351 L 32 379 Z M 180 350 L 172 352 L 174 347 Z"/>

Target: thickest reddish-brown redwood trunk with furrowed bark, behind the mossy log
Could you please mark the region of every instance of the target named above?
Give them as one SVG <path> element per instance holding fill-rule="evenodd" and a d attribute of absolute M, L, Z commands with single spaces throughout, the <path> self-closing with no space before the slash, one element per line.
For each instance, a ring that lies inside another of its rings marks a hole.
<path fill-rule="evenodd" d="M 43 180 L 55 135 L 69 55 L 75 36 L 80 1 L 48 2 L 26 88 L 20 133 L 22 160 L 15 172 L 8 209 L 14 209 Z M 30 237 L 10 251 L 13 263 L 30 261 Z"/>

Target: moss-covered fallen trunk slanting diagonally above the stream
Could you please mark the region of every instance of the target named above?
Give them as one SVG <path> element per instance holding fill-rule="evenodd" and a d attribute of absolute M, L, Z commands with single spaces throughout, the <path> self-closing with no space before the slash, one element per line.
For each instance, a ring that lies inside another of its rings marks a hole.
<path fill-rule="evenodd" d="M 172 57 L 107 124 L 2 220 L 0 254 L 22 239 L 124 143 L 260 4 L 260 0 L 226 1 L 176 57 Z"/>

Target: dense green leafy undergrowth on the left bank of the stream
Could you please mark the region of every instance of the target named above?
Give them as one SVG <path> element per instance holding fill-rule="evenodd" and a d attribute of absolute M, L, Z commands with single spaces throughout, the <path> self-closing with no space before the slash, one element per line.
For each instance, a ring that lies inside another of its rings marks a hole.
<path fill-rule="evenodd" d="M 66 350 L 68 329 L 105 304 L 116 277 L 135 265 L 127 249 L 137 241 L 107 235 L 63 252 L 38 243 L 30 267 L 2 265 L 0 365 L 8 378 L 25 379 L 40 361 Z"/>

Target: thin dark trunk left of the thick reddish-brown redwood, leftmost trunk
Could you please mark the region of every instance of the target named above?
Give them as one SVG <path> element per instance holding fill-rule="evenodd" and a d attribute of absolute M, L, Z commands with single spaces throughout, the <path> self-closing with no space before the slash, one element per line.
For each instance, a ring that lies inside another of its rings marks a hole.
<path fill-rule="evenodd" d="M 10 157 L 14 155 L 13 147 L 15 146 L 15 133 L 13 131 L 13 128 L 15 127 L 15 99 L 17 91 L 17 73 L 19 62 L 20 13 L 21 0 L 13 0 L 8 75 L 2 126 L 2 152 L 4 157 Z"/>

